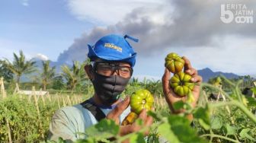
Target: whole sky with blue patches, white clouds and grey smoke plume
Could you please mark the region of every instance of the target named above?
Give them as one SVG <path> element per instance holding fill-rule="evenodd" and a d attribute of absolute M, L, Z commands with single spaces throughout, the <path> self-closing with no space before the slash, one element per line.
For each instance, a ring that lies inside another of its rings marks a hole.
<path fill-rule="evenodd" d="M 252 23 L 224 23 L 221 5 Z M 233 5 L 233 7 L 232 7 Z M 240 6 L 239 6 L 240 5 Z M 241 7 L 242 5 L 242 7 Z M 247 15 L 246 11 L 253 14 Z M 164 59 L 177 52 L 196 69 L 256 75 L 254 0 L 2 0 L 0 59 L 23 50 L 37 57 L 70 63 L 85 60 L 88 47 L 109 33 L 139 39 L 134 76 L 159 79 Z"/>

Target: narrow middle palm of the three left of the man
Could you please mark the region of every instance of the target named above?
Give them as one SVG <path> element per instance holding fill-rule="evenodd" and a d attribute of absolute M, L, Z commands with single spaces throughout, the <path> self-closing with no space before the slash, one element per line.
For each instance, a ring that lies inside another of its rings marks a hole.
<path fill-rule="evenodd" d="M 56 67 L 53 66 L 53 68 L 50 67 L 50 61 L 42 62 L 43 64 L 43 72 L 41 73 L 41 80 L 43 84 L 43 90 L 46 91 L 46 86 L 50 84 L 53 81 L 53 78 L 55 77 L 55 69 Z"/>

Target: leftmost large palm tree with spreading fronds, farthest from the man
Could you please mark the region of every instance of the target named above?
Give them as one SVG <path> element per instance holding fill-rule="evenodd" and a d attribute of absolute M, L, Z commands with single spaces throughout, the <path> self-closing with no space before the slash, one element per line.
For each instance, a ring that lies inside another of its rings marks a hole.
<path fill-rule="evenodd" d="M 14 53 L 13 62 L 10 62 L 8 59 L 5 59 L 5 61 L 2 63 L 6 66 L 6 68 L 8 68 L 12 73 L 14 73 L 14 75 L 16 75 L 17 83 L 20 82 L 21 75 L 30 74 L 36 71 L 35 69 L 36 62 L 31 60 L 26 61 L 26 58 L 22 51 L 20 51 L 20 56 Z"/>

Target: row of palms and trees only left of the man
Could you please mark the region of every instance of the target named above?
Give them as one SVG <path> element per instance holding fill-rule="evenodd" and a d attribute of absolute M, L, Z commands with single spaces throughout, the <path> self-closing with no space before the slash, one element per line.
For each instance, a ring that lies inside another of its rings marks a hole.
<path fill-rule="evenodd" d="M 62 65 L 62 71 L 56 73 L 56 67 L 50 66 L 50 61 L 42 61 L 42 69 L 38 69 L 36 62 L 32 59 L 26 60 L 24 53 L 19 55 L 14 53 L 13 61 L 8 59 L 0 60 L 0 77 L 5 78 L 8 84 L 37 84 L 43 90 L 49 88 L 55 90 L 71 90 L 85 84 L 89 84 L 89 79 L 84 71 L 85 64 L 89 64 L 89 60 L 85 62 L 73 61 L 72 67 Z M 21 76 L 28 75 L 31 79 L 27 83 L 21 83 Z M 87 86 L 88 87 L 88 86 Z"/>

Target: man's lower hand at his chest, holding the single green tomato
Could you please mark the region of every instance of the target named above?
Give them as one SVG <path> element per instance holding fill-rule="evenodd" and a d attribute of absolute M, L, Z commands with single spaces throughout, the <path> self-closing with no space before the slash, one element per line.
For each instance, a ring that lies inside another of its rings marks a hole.
<path fill-rule="evenodd" d="M 116 108 L 112 110 L 110 113 L 107 114 L 107 119 L 113 119 L 117 125 L 120 125 L 120 119 L 119 116 L 123 113 L 124 110 L 129 106 L 130 104 L 130 97 L 126 97 L 125 100 L 118 103 Z M 153 109 L 152 109 L 153 110 Z M 142 110 L 142 112 L 139 114 L 139 119 L 142 119 L 143 125 L 142 126 L 151 126 L 153 122 L 152 116 L 147 116 L 146 110 Z M 132 125 L 127 126 L 120 126 L 120 135 L 127 135 L 131 132 L 139 131 L 139 129 L 142 128 L 142 126 L 136 125 L 136 123 L 133 123 Z M 149 131 L 145 132 L 145 135 L 148 135 Z"/>

